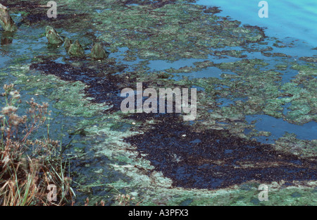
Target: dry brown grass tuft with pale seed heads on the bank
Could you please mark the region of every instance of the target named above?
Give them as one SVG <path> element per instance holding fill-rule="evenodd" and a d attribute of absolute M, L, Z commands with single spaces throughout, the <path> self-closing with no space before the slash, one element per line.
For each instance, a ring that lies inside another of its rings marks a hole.
<path fill-rule="evenodd" d="M 47 137 L 30 140 L 30 135 L 44 126 L 49 104 L 27 102 L 30 109 L 18 116 L 20 93 L 14 85 L 4 85 L 5 106 L 0 112 L 0 205 L 63 205 L 75 193 L 66 176 L 68 161 L 63 159 L 61 143 Z M 50 185 L 56 186 L 56 201 L 51 200 Z"/>

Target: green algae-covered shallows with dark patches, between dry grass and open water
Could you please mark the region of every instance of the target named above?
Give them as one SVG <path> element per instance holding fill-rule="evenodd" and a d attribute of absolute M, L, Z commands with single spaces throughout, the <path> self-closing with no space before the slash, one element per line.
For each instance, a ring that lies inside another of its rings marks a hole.
<path fill-rule="evenodd" d="M 0 82 L 49 102 L 77 205 L 316 205 L 316 49 L 194 2 L 4 1 Z M 197 117 L 124 113 L 137 82 L 195 88 Z"/>

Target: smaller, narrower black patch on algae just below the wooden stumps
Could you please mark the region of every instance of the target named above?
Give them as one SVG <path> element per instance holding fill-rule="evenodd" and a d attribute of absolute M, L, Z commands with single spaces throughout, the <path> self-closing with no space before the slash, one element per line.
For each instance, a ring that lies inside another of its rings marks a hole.
<path fill-rule="evenodd" d="M 30 69 L 42 71 L 44 74 L 56 75 L 61 80 L 83 82 L 87 85 L 87 88 L 85 88 L 87 97 L 94 98 L 92 102 L 113 105 L 111 111 L 118 111 L 123 100 L 123 97 L 120 97 L 120 90 L 127 87 L 127 85 L 123 77 L 112 74 L 120 73 L 125 69 L 125 66 L 100 65 L 102 66 L 89 68 L 89 63 L 76 67 L 69 63 L 43 61 L 32 63 Z"/>

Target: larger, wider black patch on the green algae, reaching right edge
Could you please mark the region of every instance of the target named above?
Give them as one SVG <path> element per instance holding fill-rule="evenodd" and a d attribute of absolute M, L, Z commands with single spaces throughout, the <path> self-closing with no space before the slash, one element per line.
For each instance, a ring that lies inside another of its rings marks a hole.
<path fill-rule="evenodd" d="M 316 180 L 316 160 L 282 154 L 271 145 L 243 140 L 226 130 L 196 132 L 170 114 L 156 119 L 154 128 L 125 142 L 137 147 L 175 187 L 217 189 L 252 180 Z"/>

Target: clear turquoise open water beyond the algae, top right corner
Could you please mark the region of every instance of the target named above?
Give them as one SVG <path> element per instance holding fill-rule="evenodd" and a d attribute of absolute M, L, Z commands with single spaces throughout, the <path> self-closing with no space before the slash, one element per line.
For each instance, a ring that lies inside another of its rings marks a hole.
<path fill-rule="evenodd" d="M 299 39 L 317 47 L 316 0 L 268 0 L 268 18 L 259 18 L 260 0 L 199 0 L 197 4 L 219 6 L 220 16 L 230 16 L 243 24 L 267 27 L 270 37 Z"/>

